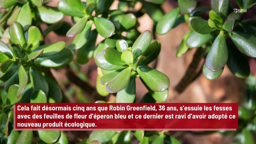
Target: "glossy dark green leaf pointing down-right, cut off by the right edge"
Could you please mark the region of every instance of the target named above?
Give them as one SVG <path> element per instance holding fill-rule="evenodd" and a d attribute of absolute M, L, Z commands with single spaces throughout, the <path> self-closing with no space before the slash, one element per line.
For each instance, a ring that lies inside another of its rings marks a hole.
<path fill-rule="evenodd" d="M 232 33 L 233 35 L 230 34 L 230 38 L 235 46 L 247 56 L 256 57 L 256 36 L 241 31 L 233 31 Z"/>

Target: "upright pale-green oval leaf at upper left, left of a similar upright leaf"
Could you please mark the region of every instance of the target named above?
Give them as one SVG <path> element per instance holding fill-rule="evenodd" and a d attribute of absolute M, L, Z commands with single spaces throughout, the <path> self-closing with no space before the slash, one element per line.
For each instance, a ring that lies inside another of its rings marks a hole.
<path fill-rule="evenodd" d="M 18 22 L 14 22 L 10 25 L 9 34 L 13 43 L 20 44 L 22 47 L 26 44 L 22 25 Z"/>

